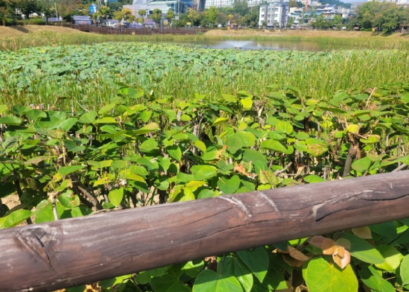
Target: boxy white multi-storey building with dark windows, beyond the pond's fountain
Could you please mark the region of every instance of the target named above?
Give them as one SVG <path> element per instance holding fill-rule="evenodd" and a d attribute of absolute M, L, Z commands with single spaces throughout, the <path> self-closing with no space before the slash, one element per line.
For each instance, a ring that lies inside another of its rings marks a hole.
<path fill-rule="evenodd" d="M 288 2 L 273 2 L 266 6 L 260 6 L 259 26 L 262 26 L 263 21 L 265 21 L 267 27 L 284 28 L 287 26 L 288 15 Z"/>

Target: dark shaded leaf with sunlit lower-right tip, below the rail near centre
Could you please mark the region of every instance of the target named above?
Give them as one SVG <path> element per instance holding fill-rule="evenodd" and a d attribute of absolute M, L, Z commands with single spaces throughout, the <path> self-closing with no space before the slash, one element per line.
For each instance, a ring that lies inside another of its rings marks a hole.
<path fill-rule="evenodd" d="M 223 257 L 217 265 L 217 273 L 221 275 L 235 276 L 246 292 L 252 290 L 253 274 L 239 257 Z"/>

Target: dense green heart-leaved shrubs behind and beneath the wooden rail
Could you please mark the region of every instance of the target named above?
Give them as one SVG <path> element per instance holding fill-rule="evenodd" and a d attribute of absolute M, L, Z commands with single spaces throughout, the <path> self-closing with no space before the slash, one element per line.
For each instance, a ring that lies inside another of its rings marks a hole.
<path fill-rule="evenodd" d="M 267 91 L 158 99 L 122 85 L 98 110 L 0 106 L 0 197 L 17 193 L 21 202 L 2 205 L 0 227 L 407 168 L 409 85 L 338 91 L 328 101 L 293 86 Z M 99 285 L 403 290 L 408 226 L 401 220 L 209 255 Z"/>

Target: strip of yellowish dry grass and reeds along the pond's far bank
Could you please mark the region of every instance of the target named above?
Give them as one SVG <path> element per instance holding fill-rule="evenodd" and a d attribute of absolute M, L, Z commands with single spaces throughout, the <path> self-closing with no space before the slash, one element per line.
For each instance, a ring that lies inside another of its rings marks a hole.
<path fill-rule="evenodd" d="M 23 47 L 50 44 L 93 44 L 101 42 L 187 41 L 187 40 L 276 40 L 314 41 L 323 44 L 343 44 L 356 48 L 409 49 L 409 36 L 393 34 L 373 35 L 369 32 L 327 31 L 209 31 L 202 35 L 98 35 L 73 29 L 51 26 L 22 28 L 0 27 L 0 50 L 19 50 Z"/>

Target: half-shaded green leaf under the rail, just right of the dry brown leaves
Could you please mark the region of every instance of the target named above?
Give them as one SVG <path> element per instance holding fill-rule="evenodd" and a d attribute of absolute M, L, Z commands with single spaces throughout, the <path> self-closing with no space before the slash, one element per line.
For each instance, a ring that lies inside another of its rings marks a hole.
<path fill-rule="evenodd" d="M 383 256 L 379 253 L 379 251 L 365 239 L 361 239 L 350 233 L 345 233 L 342 238 L 345 238 L 351 242 L 349 253 L 352 257 L 373 264 L 384 262 Z"/>

